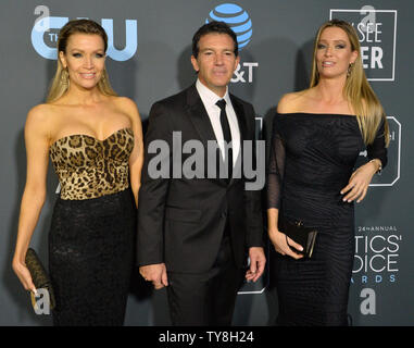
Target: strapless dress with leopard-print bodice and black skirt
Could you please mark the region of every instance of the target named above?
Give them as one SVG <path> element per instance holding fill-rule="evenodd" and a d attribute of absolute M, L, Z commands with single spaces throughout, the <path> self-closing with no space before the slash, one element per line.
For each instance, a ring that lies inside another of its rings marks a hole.
<path fill-rule="evenodd" d="M 134 264 L 136 208 L 129 128 L 101 141 L 61 138 L 50 156 L 61 184 L 49 233 L 54 325 L 123 325 Z"/>

